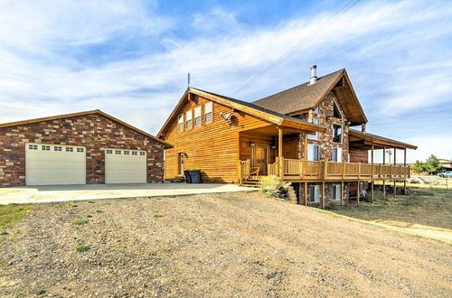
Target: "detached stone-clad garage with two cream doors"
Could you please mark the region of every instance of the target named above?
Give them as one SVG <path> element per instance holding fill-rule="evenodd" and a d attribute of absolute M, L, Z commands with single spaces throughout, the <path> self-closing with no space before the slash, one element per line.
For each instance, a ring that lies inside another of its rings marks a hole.
<path fill-rule="evenodd" d="M 88 111 L 0 125 L 0 187 L 164 182 L 171 145 Z"/>

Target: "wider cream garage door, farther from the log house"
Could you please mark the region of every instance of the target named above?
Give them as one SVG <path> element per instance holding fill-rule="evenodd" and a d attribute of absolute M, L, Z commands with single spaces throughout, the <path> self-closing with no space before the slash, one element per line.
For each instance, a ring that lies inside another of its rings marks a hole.
<path fill-rule="evenodd" d="M 25 144 L 27 185 L 86 183 L 86 148 L 60 144 Z"/>

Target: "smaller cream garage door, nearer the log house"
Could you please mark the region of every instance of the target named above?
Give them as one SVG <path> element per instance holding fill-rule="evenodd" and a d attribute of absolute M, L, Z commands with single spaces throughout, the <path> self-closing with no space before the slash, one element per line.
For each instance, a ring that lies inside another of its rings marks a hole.
<path fill-rule="evenodd" d="M 107 149 L 106 183 L 146 183 L 146 151 Z"/>

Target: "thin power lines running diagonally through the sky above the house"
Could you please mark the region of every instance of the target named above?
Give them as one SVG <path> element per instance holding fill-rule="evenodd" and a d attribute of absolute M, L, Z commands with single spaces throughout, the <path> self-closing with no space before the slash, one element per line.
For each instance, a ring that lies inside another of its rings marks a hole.
<path fill-rule="evenodd" d="M 292 48 L 290 48 L 288 51 L 286 51 L 281 57 L 278 58 L 277 61 L 274 61 L 273 63 L 271 63 L 267 68 L 260 71 L 258 73 L 258 75 L 256 75 L 253 79 L 250 79 L 245 85 L 243 85 L 242 87 L 235 90 L 235 92 L 231 94 L 231 97 L 233 97 L 237 93 L 240 93 L 243 89 L 248 88 L 255 80 L 259 79 L 260 77 L 262 77 L 263 75 L 268 73 L 270 70 L 277 68 L 279 64 L 281 64 L 283 61 L 285 61 L 288 57 L 295 54 L 304 45 L 306 45 L 307 43 L 314 40 L 315 37 L 318 36 L 318 34 L 324 32 L 326 28 L 328 28 L 330 25 L 332 25 L 334 23 L 334 21 L 339 18 L 339 16 L 344 14 L 345 11 L 347 11 L 349 8 L 351 8 L 353 5 L 356 5 L 360 1 L 361 0 L 353 0 L 348 5 L 344 6 L 344 8 L 341 11 L 339 11 L 337 14 L 334 14 L 334 16 L 332 18 L 330 18 L 330 19 L 326 20 L 324 23 L 320 24 L 320 26 L 318 26 L 315 29 L 315 31 L 313 31 L 312 33 L 310 33 L 309 35 L 304 37 L 300 42 L 297 42 L 296 45 L 294 45 Z"/>

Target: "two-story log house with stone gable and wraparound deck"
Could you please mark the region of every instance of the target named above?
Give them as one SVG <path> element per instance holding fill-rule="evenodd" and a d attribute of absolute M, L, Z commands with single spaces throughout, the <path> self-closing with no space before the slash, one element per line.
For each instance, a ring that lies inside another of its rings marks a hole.
<path fill-rule="evenodd" d="M 373 200 L 375 181 L 393 182 L 395 191 L 395 182 L 410 177 L 406 150 L 417 147 L 365 131 L 345 70 L 319 79 L 311 70 L 310 81 L 252 103 L 187 88 L 157 135 L 174 145 L 165 150 L 165 179 L 199 169 L 203 182 L 259 185 L 278 175 L 292 182 L 298 203 L 322 208 L 331 200 L 359 202 L 364 188 Z M 375 150 L 399 150 L 405 163 L 374 164 Z"/>

